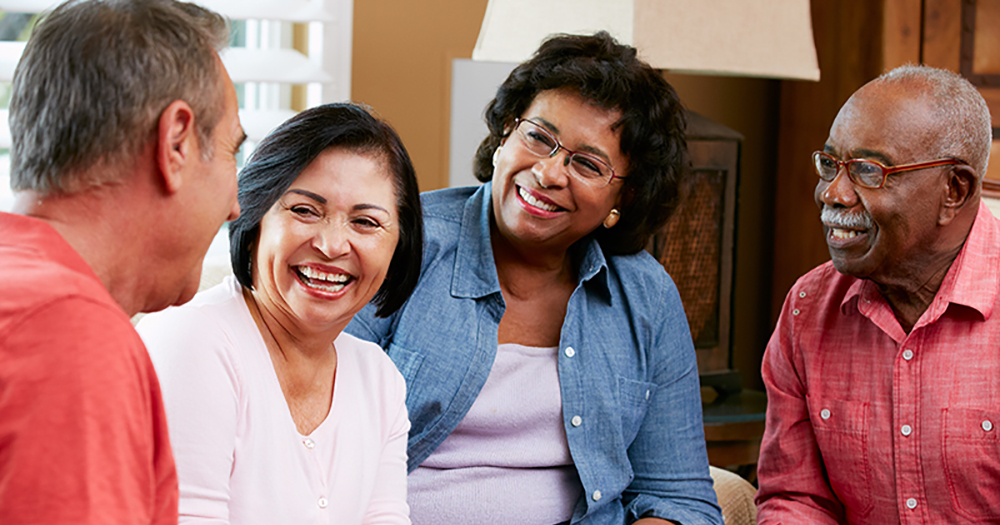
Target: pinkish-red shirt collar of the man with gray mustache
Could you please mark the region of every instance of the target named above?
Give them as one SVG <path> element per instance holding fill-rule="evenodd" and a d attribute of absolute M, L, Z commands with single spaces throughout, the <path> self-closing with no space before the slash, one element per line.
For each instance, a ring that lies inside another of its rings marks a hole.
<path fill-rule="evenodd" d="M 1000 252 L 997 251 L 997 246 L 1000 246 L 1000 226 L 986 204 L 980 202 L 965 245 L 951 263 L 948 273 L 941 281 L 941 287 L 925 313 L 925 316 L 930 314 L 927 317 L 931 322 L 940 317 L 952 303 L 968 306 L 978 311 L 984 319 L 990 318 L 997 294 L 1000 293 L 995 285 L 1000 282 Z M 840 303 L 842 312 L 847 312 L 848 303 L 855 297 L 868 301 L 883 300 L 875 283 L 857 279 L 844 294 Z"/>

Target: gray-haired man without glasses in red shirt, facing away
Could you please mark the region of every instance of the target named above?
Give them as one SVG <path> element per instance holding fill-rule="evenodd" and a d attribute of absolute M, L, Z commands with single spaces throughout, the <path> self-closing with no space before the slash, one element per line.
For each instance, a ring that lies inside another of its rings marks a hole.
<path fill-rule="evenodd" d="M 225 20 L 83 0 L 35 27 L 0 213 L 0 523 L 176 524 L 159 384 L 129 318 L 198 287 L 239 214 Z"/>

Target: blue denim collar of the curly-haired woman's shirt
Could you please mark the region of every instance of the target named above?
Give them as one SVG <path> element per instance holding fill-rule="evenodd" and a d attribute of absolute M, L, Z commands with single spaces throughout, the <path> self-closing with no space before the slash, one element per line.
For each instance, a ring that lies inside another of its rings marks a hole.
<path fill-rule="evenodd" d="M 481 298 L 500 293 L 500 280 L 490 242 L 492 188 L 493 183 L 487 182 L 465 201 L 458 234 L 455 271 L 451 280 L 453 297 Z M 608 263 L 598 242 L 588 236 L 574 244 L 570 250 L 583 250 L 583 257 L 577 258 L 580 261 L 576 272 L 580 276 L 577 287 L 590 283 L 588 286 L 593 286 L 611 304 Z"/>

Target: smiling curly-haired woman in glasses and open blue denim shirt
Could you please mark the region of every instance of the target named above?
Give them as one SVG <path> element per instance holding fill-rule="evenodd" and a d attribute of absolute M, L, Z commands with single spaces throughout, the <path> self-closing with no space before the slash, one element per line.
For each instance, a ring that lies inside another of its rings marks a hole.
<path fill-rule="evenodd" d="M 677 196 L 676 93 L 606 33 L 560 36 L 486 120 L 486 184 L 422 196 L 417 289 L 347 329 L 406 379 L 413 523 L 721 524 L 690 332 L 643 251 Z"/>

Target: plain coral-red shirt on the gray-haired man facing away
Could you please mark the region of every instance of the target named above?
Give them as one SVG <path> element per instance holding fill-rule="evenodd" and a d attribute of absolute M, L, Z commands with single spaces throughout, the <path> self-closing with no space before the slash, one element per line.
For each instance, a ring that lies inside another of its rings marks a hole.
<path fill-rule="evenodd" d="M 177 473 L 146 348 L 54 229 L 7 213 L 0 523 L 177 523 Z"/>

